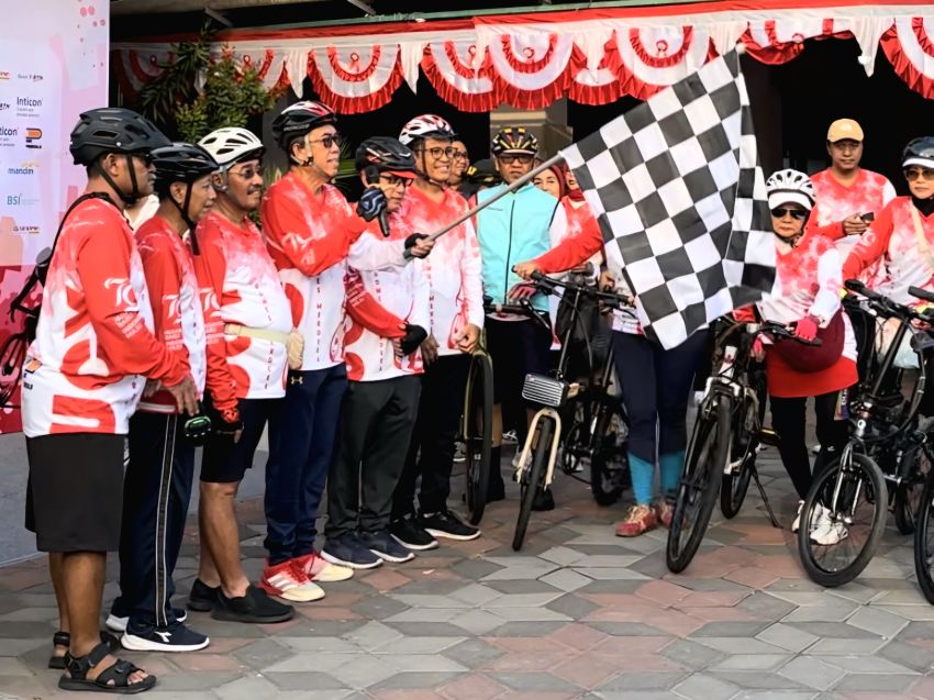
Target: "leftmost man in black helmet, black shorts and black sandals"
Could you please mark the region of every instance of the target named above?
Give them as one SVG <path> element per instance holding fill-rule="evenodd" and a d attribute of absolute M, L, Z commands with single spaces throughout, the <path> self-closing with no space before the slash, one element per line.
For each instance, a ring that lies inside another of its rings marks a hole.
<path fill-rule="evenodd" d="M 124 207 L 153 191 L 153 148 L 169 145 L 124 109 L 81 114 L 70 152 L 88 169 L 66 214 L 45 278 L 36 337 L 23 364 L 22 415 L 30 463 L 26 520 L 49 569 L 67 648 L 65 690 L 140 692 L 155 676 L 119 662 L 100 635 L 107 553 L 120 545 L 130 416 L 146 378 L 180 411 L 198 396 L 185 363 L 154 335 L 143 263 Z M 64 652 L 63 652 L 64 653 Z"/>

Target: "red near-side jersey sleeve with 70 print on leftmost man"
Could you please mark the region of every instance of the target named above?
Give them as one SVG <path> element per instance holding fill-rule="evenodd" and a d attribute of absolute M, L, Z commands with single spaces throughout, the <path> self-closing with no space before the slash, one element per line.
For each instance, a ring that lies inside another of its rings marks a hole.
<path fill-rule="evenodd" d="M 108 235 L 103 226 L 87 236 L 77 253 L 77 273 L 98 343 L 114 370 L 180 384 L 186 367 L 146 327 L 130 285 L 129 238 Z"/>

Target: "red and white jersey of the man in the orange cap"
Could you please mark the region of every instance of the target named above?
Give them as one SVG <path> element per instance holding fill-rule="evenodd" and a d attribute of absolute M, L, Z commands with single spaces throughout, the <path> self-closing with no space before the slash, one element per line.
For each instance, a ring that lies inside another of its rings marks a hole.
<path fill-rule="evenodd" d="M 844 235 L 843 220 L 869 212 L 878 216 L 882 208 L 896 198 L 896 188 L 888 178 L 863 168 L 849 186 L 841 185 L 831 168 L 815 173 L 811 181 L 818 192 L 818 203 L 811 212 L 809 227 L 816 226 L 819 233 L 836 241 L 836 247 L 844 256 L 859 236 Z"/>

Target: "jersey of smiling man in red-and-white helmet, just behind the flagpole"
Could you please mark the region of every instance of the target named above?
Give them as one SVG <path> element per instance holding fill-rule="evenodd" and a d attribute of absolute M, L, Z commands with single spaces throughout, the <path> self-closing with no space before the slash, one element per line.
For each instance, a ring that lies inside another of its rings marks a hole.
<path fill-rule="evenodd" d="M 405 192 L 399 218 L 415 233 L 432 234 L 469 211 L 467 201 L 453 189 L 435 202 L 412 186 Z M 483 327 L 483 281 L 480 246 L 468 219 L 441 236 L 431 255 L 415 262 L 429 285 L 430 326 L 438 355 L 457 355 L 457 342 L 468 323 Z"/>

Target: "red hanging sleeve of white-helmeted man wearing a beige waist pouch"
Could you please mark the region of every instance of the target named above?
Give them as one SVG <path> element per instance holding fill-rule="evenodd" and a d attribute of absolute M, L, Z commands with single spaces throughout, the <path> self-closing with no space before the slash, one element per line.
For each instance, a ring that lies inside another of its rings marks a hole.
<path fill-rule="evenodd" d="M 194 276 L 201 291 L 204 311 L 204 334 L 208 375 L 204 381 L 214 408 L 230 422 L 236 421 L 236 380 L 227 365 L 227 343 L 224 338 L 224 320 L 221 307 L 226 275 L 226 259 L 220 237 L 199 233 L 201 254 L 194 256 Z"/>

